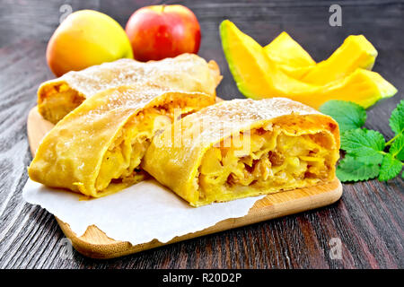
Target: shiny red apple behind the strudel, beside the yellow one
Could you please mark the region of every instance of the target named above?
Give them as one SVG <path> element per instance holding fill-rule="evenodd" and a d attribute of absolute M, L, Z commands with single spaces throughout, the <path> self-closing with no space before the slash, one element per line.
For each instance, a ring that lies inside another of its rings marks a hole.
<path fill-rule="evenodd" d="M 183 5 L 140 8 L 130 16 L 125 30 L 138 61 L 197 54 L 199 50 L 198 19 Z"/>

